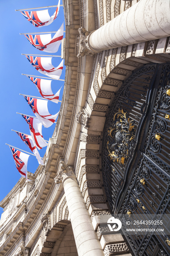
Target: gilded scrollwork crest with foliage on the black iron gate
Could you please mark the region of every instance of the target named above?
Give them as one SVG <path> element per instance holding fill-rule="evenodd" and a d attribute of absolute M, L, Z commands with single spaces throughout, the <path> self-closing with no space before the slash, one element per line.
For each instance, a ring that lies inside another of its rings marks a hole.
<path fill-rule="evenodd" d="M 121 165 L 130 157 L 130 150 L 134 143 L 137 125 L 123 109 L 113 117 L 113 124 L 108 129 L 107 150 L 113 162 Z"/>

